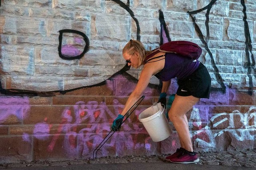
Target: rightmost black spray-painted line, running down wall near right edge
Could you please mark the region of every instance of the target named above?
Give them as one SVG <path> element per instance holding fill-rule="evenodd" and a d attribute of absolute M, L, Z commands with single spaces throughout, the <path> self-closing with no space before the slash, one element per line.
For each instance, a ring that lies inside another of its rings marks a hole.
<path fill-rule="evenodd" d="M 251 36 L 250 36 L 250 31 L 249 31 L 249 26 L 248 26 L 248 22 L 247 22 L 247 15 L 246 15 L 246 6 L 244 4 L 244 0 L 241 0 L 241 4 L 243 6 L 243 21 L 244 21 L 244 36 L 245 36 L 245 54 L 246 54 L 246 63 L 245 63 L 245 67 L 247 67 L 248 71 L 247 71 L 247 76 L 249 77 L 249 89 L 248 89 L 248 94 L 252 95 L 253 93 L 253 83 L 252 83 L 252 76 L 251 76 L 251 66 L 255 65 L 255 60 L 254 60 L 254 56 L 252 54 L 252 40 L 251 40 Z M 252 63 L 250 62 L 250 53 L 252 55 Z M 256 75 L 254 75 L 255 77 Z"/>

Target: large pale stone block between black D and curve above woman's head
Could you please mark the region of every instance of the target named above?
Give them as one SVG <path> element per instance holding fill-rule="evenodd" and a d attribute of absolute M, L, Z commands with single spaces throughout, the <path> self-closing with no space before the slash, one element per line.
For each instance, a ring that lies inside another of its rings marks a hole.
<path fill-rule="evenodd" d="M 108 14 L 92 15 L 90 35 L 93 40 L 128 42 L 130 40 L 130 17 Z"/>

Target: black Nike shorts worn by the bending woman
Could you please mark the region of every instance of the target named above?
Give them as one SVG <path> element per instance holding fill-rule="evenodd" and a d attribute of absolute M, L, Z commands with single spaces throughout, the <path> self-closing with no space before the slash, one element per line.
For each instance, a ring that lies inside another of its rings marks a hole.
<path fill-rule="evenodd" d="M 210 97 L 211 77 L 206 67 L 200 63 L 198 68 L 188 77 L 178 80 L 179 96 L 194 96 L 197 98 Z"/>

